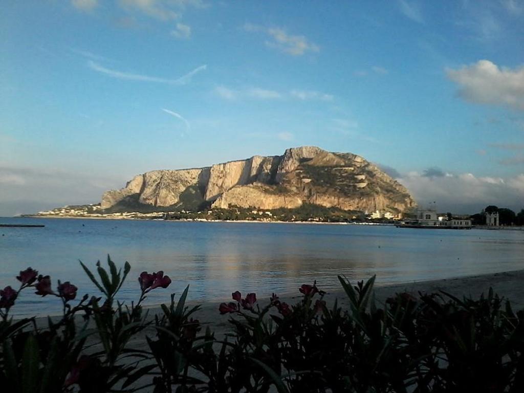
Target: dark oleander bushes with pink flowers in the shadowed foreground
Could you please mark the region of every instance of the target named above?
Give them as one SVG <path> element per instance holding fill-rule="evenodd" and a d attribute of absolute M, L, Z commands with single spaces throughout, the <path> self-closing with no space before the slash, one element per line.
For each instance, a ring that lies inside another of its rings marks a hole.
<path fill-rule="evenodd" d="M 129 270 L 108 258 L 99 278 L 83 269 L 103 297 L 83 296 L 28 268 L 18 289 L 0 291 L 0 386 L 8 392 L 521 392 L 524 311 L 490 290 L 478 300 L 447 293 L 399 293 L 377 307 L 375 278 L 352 286 L 340 277 L 348 306 L 326 304 L 324 292 L 302 285 L 296 304 L 276 294 L 232 293 L 222 339 L 193 319 L 188 288 L 162 314 L 147 318 L 142 303 L 167 288 L 162 271 L 138 278 L 140 297 L 115 300 Z M 13 321 L 19 293 L 56 297 L 62 316 L 37 326 Z M 90 323 L 91 322 L 91 323 Z"/>

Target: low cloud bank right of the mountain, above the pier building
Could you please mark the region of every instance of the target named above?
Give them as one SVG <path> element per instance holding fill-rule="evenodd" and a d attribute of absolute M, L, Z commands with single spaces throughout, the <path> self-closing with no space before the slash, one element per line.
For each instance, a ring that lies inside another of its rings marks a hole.
<path fill-rule="evenodd" d="M 436 201 L 439 210 L 454 213 L 476 213 L 490 204 L 522 208 L 524 174 L 504 179 L 472 173 L 428 177 L 410 172 L 398 180 L 422 207 Z"/>

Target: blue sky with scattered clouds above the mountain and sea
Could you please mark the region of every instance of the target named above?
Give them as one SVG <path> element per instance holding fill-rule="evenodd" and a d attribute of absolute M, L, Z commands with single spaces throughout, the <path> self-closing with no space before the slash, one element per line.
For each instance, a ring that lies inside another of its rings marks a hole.
<path fill-rule="evenodd" d="M 303 145 L 520 211 L 523 39 L 518 0 L 7 0 L 0 216 Z"/>

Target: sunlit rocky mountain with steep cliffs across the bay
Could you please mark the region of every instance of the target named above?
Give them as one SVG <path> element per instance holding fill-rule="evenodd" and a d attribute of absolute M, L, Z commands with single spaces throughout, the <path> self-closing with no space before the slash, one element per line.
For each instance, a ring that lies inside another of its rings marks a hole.
<path fill-rule="evenodd" d="M 343 210 L 403 212 L 409 191 L 364 158 L 314 146 L 211 167 L 138 174 L 102 196 L 104 211 L 197 210 L 240 206 L 271 210 L 312 203 Z"/>

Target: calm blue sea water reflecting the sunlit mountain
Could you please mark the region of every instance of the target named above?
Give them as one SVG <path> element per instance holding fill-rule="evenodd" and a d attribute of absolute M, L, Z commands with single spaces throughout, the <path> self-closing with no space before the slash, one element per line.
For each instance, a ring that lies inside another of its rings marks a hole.
<path fill-rule="evenodd" d="M 95 267 L 107 254 L 132 270 L 122 300 L 138 297 L 141 271 L 163 270 L 173 283 L 150 293 L 168 301 L 190 284 L 192 300 L 229 300 L 231 292 L 297 292 L 318 281 L 339 288 L 336 276 L 377 275 L 379 285 L 524 268 L 524 231 L 417 230 L 392 226 L 203 223 L 2 218 L 45 228 L 0 227 L 0 287 L 18 286 L 28 266 L 53 280 L 71 281 L 79 295 L 96 294 L 78 260 Z M 80 297 L 80 296 L 79 296 Z M 58 313 L 56 298 L 26 292 L 14 315 Z"/>

